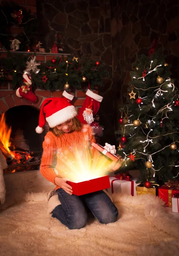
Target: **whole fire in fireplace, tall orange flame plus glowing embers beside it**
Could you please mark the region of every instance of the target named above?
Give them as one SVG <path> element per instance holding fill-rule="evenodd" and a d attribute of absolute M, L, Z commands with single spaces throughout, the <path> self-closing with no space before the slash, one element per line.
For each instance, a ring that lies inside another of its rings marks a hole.
<path fill-rule="evenodd" d="M 4 156 L 6 158 L 11 158 L 13 164 L 21 163 L 23 159 L 23 163 L 31 158 L 31 154 L 24 151 L 17 151 L 14 148 L 14 151 L 11 151 L 9 147 L 11 146 L 10 140 L 11 136 L 11 127 L 9 128 L 6 125 L 6 117 L 3 113 L 0 119 L 0 149 L 2 150 Z"/>

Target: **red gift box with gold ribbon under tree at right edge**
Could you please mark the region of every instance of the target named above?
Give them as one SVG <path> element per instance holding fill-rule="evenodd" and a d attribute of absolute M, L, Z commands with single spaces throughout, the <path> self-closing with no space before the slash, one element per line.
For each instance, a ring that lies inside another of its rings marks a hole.
<path fill-rule="evenodd" d="M 169 189 L 167 186 L 161 186 L 159 188 L 159 197 L 163 199 L 167 204 L 167 207 L 172 207 L 173 194 L 178 193 L 179 189 Z"/>

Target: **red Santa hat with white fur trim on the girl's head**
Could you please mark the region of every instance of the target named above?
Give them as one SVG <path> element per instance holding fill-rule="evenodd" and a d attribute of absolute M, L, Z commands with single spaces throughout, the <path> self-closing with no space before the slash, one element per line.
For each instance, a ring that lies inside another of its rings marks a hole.
<path fill-rule="evenodd" d="M 66 97 L 45 99 L 40 108 L 39 125 L 36 128 L 36 132 L 38 134 L 43 132 L 45 121 L 48 122 L 51 128 L 54 128 L 56 125 L 66 122 L 76 115 L 75 107 L 71 105 Z"/>

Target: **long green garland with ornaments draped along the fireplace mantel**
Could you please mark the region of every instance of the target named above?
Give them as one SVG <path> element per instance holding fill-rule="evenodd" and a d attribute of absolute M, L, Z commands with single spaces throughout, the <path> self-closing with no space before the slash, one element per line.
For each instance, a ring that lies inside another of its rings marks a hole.
<path fill-rule="evenodd" d="M 32 87 L 42 90 L 80 89 L 83 82 L 90 82 L 91 88 L 103 86 L 102 78 L 109 77 L 102 61 L 81 59 L 72 56 L 57 57 L 51 61 L 37 62 L 35 54 L 32 57 L 22 53 L 8 52 L 7 58 L 0 58 L 0 81 L 12 76 L 12 89 L 23 83 L 23 73 L 31 75 Z"/>

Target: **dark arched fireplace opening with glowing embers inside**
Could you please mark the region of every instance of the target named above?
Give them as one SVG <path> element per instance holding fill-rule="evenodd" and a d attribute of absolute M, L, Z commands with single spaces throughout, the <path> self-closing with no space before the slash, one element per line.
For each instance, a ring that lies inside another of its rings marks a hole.
<path fill-rule="evenodd" d="M 11 132 L 8 145 L 10 154 L 4 151 L 8 164 L 5 173 L 40 169 L 42 144 L 46 132 L 37 134 L 35 131 L 39 113 L 39 109 L 28 105 L 20 105 L 6 111 L 4 120 L 6 119 L 7 132 L 10 127 Z"/>

